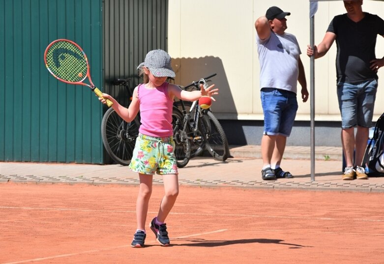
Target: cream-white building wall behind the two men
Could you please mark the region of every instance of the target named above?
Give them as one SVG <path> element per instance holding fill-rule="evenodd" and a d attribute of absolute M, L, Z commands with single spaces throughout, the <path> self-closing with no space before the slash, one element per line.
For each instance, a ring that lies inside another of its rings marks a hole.
<path fill-rule="evenodd" d="M 217 73 L 212 82 L 220 89 L 212 109 L 221 119 L 263 120 L 260 103 L 259 59 L 255 40 L 256 19 L 272 5 L 287 16 L 288 29 L 299 42 L 308 90 L 310 90 L 309 0 L 169 0 L 168 51 L 173 58 L 175 82 L 187 85 L 193 80 Z M 384 2 L 364 0 L 363 11 L 384 19 Z M 331 19 L 346 13 L 342 1 L 319 2 L 315 15 L 315 44 L 324 37 Z M 384 56 L 384 38 L 378 36 L 376 55 Z M 315 60 L 315 120 L 338 121 L 336 95 L 336 43 Z M 300 90 L 298 84 L 297 90 Z M 310 94 L 310 96 L 313 96 Z M 310 120 L 310 100 L 301 102 L 296 120 Z M 379 70 L 376 120 L 384 112 L 384 67 Z"/>

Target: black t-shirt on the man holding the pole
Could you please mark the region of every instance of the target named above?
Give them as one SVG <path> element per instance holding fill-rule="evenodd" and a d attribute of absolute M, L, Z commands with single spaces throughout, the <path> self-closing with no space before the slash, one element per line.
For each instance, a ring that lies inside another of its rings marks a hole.
<path fill-rule="evenodd" d="M 326 30 L 336 34 L 337 81 L 359 83 L 378 79 L 369 68 L 369 62 L 376 58 L 376 39 L 378 34 L 384 35 L 384 20 L 377 15 L 364 14 L 357 23 L 347 14 L 335 16 Z"/>

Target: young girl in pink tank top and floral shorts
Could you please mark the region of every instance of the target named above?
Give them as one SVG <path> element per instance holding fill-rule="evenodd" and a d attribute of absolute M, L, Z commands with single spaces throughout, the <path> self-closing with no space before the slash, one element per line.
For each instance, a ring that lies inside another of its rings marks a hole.
<path fill-rule="evenodd" d="M 153 174 L 163 175 L 165 195 L 160 202 L 159 212 L 150 222 L 150 229 L 156 240 L 163 246 L 170 244 L 165 219 L 175 204 L 178 194 L 178 172 L 174 154 L 175 143 L 172 129 L 172 107 L 175 97 L 184 101 L 196 101 L 202 96 L 218 94 L 212 89 L 214 84 L 201 91 L 181 90 L 177 85 L 166 82 L 175 77 L 171 57 L 163 50 L 148 52 L 146 59 L 137 68 L 144 83 L 133 91 L 133 99 L 128 108 L 108 94 L 105 99 L 113 102 L 113 108 L 127 122 L 131 122 L 140 110 L 141 126 L 136 139 L 132 161 L 129 167 L 139 173 L 140 188 L 136 202 L 137 230 L 131 243 L 132 247 L 143 247 L 146 239 L 145 224 L 149 198 L 152 192 Z M 214 99 L 212 98 L 214 101 Z"/>

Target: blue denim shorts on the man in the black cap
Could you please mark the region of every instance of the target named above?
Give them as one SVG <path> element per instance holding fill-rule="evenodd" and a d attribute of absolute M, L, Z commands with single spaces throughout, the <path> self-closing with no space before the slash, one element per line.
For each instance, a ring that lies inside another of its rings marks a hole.
<path fill-rule="evenodd" d="M 296 94 L 282 89 L 262 88 L 261 101 L 264 134 L 290 136 L 298 108 Z"/>

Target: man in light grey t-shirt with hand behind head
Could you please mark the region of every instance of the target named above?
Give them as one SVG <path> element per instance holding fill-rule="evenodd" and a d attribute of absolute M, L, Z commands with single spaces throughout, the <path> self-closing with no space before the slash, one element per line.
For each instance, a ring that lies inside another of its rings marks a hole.
<path fill-rule="evenodd" d="M 255 22 L 256 41 L 260 61 L 261 101 L 264 112 L 262 137 L 263 180 L 293 178 L 282 170 L 281 160 L 287 137 L 290 136 L 297 111 L 297 81 L 301 85 L 301 98 L 308 100 L 304 67 L 296 37 L 286 33 L 291 13 L 271 6 L 266 16 Z"/>

